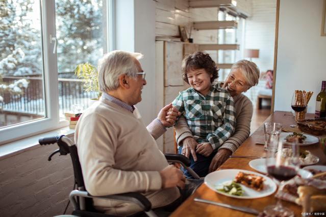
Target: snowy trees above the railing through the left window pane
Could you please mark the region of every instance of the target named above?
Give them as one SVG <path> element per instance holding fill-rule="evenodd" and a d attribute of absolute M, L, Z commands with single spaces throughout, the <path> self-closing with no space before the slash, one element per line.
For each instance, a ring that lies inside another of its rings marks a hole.
<path fill-rule="evenodd" d="M 41 73 L 41 34 L 33 27 L 33 6 L 33 0 L 0 0 L 0 75 Z"/>

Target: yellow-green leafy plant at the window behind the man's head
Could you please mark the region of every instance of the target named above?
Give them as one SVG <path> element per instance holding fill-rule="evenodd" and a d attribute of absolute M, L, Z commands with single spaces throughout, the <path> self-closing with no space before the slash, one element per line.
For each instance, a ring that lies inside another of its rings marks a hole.
<path fill-rule="evenodd" d="M 85 80 L 84 87 L 86 92 L 95 91 L 97 93 L 97 98 L 92 100 L 98 100 L 101 97 L 102 92 L 98 87 L 98 72 L 95 66 L 89 63 L 79 64 L 74 70 L 74 74 L 78 78 Z"/>

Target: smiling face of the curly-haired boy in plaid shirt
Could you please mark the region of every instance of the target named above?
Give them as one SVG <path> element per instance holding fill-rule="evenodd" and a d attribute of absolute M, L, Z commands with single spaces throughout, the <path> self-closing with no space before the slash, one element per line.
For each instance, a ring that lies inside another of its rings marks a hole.
<path fill-rule="evenodd" d="M 189 69 L 187 72 L 189 85 L 203 96 L 206 96 L 211 88 L 211 77 L 205 69 Z"/>

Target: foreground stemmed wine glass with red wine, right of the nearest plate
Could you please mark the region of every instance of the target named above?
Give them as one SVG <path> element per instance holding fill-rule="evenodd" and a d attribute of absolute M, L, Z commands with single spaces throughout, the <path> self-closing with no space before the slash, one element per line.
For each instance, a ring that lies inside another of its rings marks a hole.
<path fill-rule="evenodd" d="M 278 143 L 278 151 L 270 149 L 266 154 L 267 174 L 278 180 L 279 191 L 284 181 L 293 178 L 299 168 L 299 145 L 291 143 L 287 151 L 283 150 L 283 142 Z M 280 183 L 281 182 L 281 183 Z M 281 200 L 277 204 L 265 207 L 268 216 L 294 216 L 292 210 L 282 206 Z"/>

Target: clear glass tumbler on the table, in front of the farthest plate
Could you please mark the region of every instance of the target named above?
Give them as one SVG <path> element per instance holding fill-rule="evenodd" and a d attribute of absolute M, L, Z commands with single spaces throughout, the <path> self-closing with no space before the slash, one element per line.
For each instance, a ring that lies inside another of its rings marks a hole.
<path fill-rule="evenodd" d="M 280 140 L 280 133 L 282 131 L 281 123 L 266 122 L 264 123 L 265 145 L 264 149 L 272 149 L 276 151 L 278 142 Z"/>

